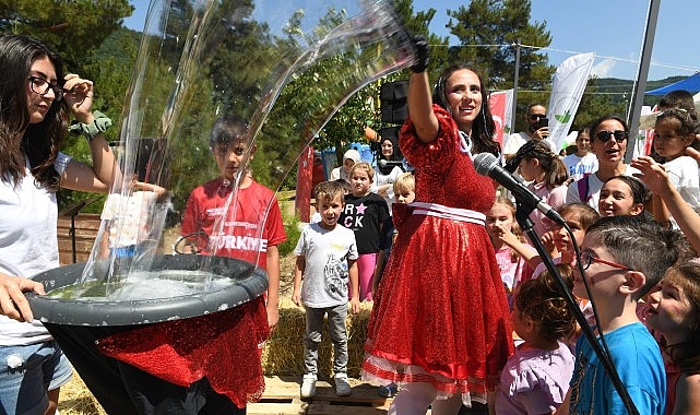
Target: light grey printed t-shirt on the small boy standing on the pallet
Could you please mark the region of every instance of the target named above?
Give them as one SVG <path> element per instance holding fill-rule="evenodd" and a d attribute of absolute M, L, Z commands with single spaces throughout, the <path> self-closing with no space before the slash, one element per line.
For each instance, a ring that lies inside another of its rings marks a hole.
<path fill-rule="evenodd" d="M 301 303 L 306 307 L 347 304 L 347 260 L 358 257 L 353 230 L 341 225 L 327 230 L 317 223 L 309 224 L 301 230 L 294 253 L 306 260 L 301 283 Z"/>

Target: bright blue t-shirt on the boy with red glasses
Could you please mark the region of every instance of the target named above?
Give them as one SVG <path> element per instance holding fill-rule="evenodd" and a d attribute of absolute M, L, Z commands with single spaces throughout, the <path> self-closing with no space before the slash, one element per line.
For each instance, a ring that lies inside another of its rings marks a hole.
<path fill-rule="evenodd" d="M 605 334 L 613 364 L 640 414 L 663 415 L 666 371 L 656 341 L 640 322 Z M 625 404 L 588 339 L 576 346 L 571 414 L 626 414 Z"/>

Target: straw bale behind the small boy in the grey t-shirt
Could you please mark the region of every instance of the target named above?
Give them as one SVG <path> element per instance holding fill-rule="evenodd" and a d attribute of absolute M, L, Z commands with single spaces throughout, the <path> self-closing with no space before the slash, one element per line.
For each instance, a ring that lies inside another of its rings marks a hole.
<path fill-rule="evenodd" d="M 359 377 L 359 370 L 365 357 L 364 344 L 367 337 L 367 323 L 371 304 L 361 303 L 357 315 L 348 315 L 347 328 L 347 375 Z M 265 342 L 262 353 L 262 368 L 266 376 L 300 376 L 304 375 L 304 332 L 306 313 L 292 300 L 283 298 L 280 301 L 280 322 L 272 336 Z M 319 345 L 319 377 L 333 375 L 333 343 L 323 327 L 321 344 Z"/>

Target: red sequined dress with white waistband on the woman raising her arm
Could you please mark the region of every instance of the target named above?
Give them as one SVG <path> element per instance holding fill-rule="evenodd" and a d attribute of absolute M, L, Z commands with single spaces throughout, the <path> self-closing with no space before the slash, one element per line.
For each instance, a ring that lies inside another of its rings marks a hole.
<path fill-rule="evenodd" d="M 415 167 L 416 202 L 394 204 L 399 236 L 370 318 L 363 377 L 430 382 L 438 395 L 486 402 L 513 352 L 510 311 L 484 227 L 495 200 L 466 141 L 434 106 L 440 131 L 425 144 L 406 120 L 401 151 Z"/>

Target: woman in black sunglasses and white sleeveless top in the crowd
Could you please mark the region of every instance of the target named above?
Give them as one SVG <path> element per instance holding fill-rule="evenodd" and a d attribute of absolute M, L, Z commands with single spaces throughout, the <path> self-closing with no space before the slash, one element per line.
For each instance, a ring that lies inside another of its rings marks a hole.
<path fill-rule="evenodd" d="M 632 176 L 639 170 L 624 163 L 629 128 L 616 116 L 605 116 L 591 124 L 591 149 L 598 159 L 598 168 L 569 185 L 567 203 L 586 203 L 598 208 L 603 183 L 615 176 Z"/>

